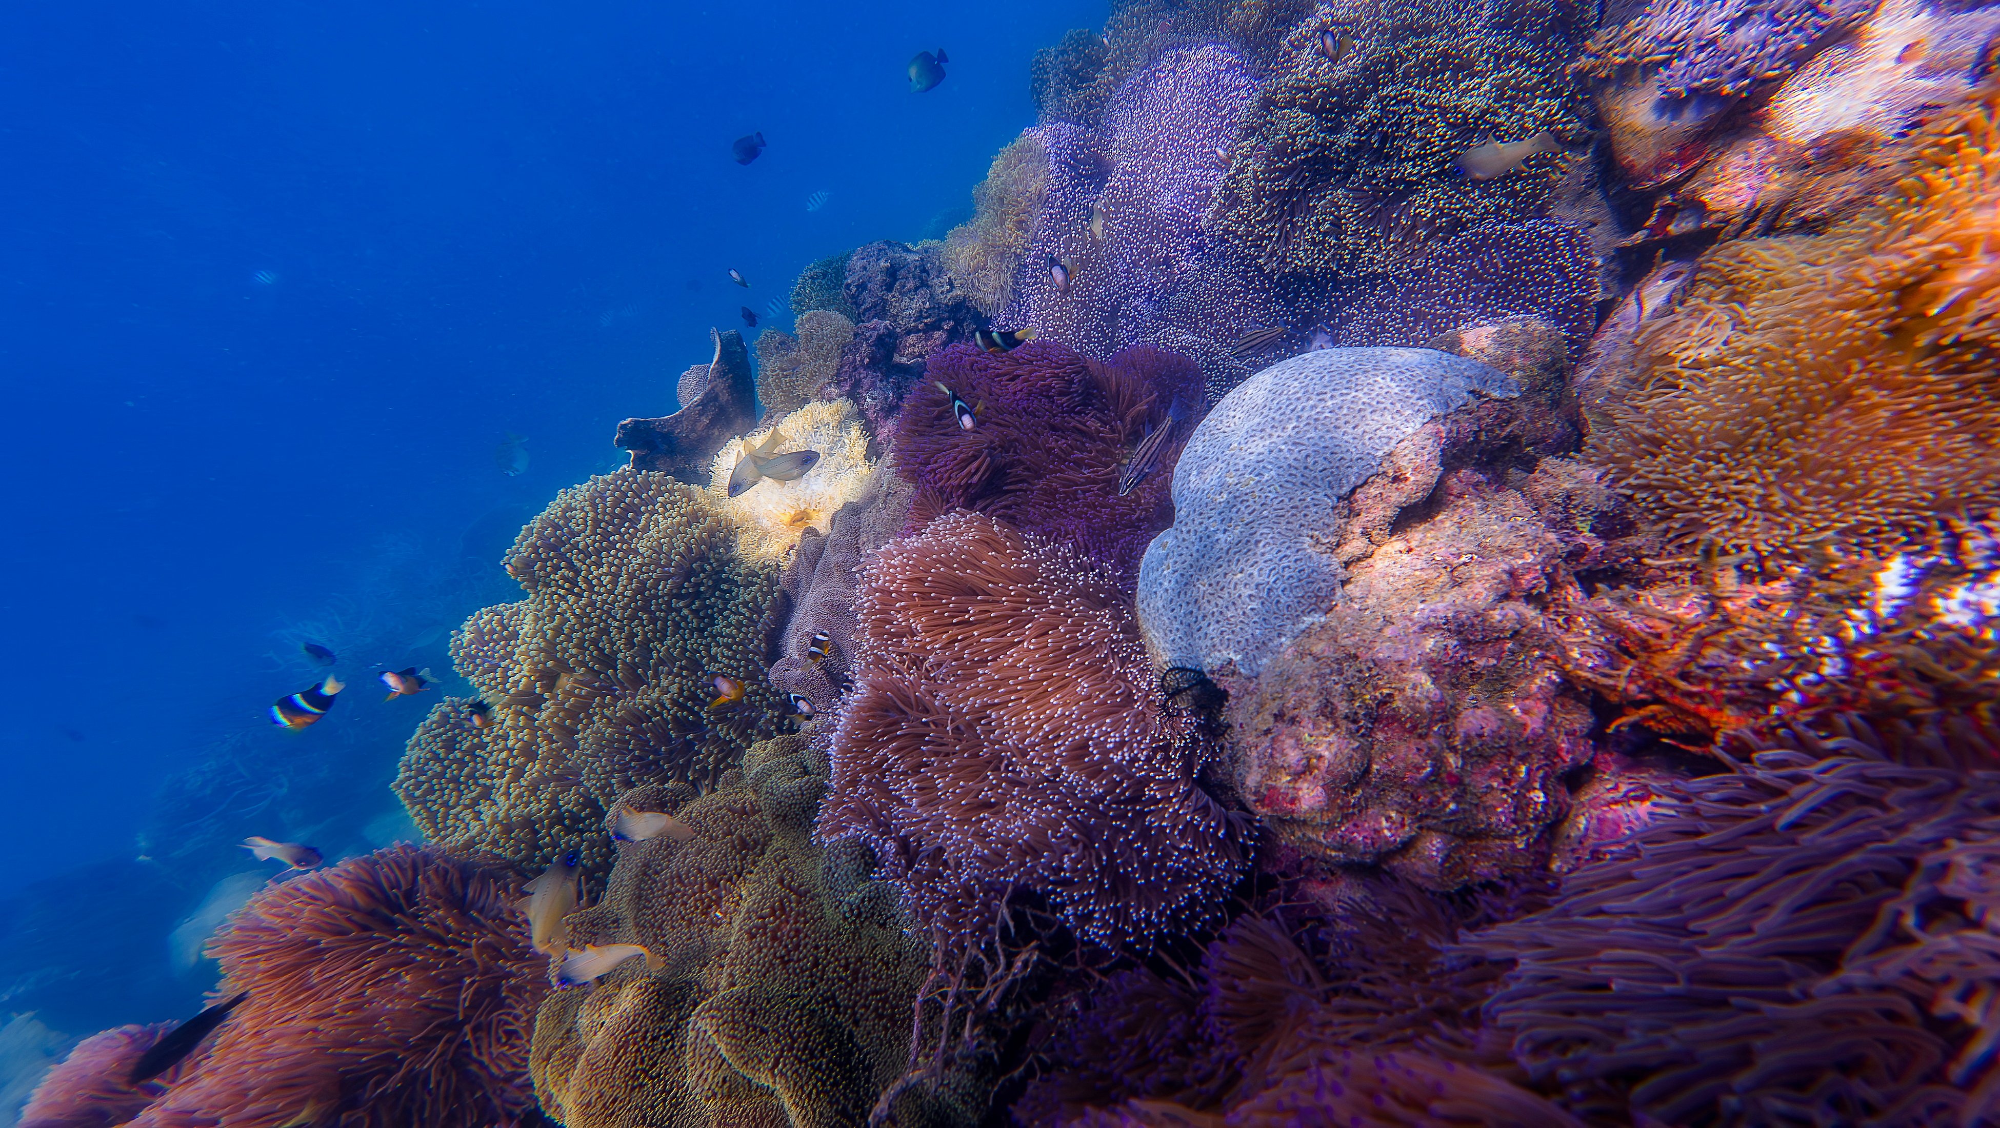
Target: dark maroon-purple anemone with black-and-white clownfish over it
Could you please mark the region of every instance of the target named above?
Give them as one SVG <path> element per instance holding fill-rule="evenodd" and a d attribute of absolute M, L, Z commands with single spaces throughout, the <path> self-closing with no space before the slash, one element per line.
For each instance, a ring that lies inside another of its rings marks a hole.
<path fill-rule="evenodd" d="M 1152 346 L 1098 364 L 1032 340 L 1002 356 L 954 346 L 928 374 L 890 450 L 896 474 L 918 486 L 910 528 L 978 510 L 1070 544 L 1130 586 L 1146 542 L 1170 520 L 1174 460 L 1202 418 L 1194 364 Z M 954 416 L 952 394 L 978 408 L 972 430 Z M 1154 470 L 1120 494 L 1126 460 L 1170 412 L 1182 422 Z"/>

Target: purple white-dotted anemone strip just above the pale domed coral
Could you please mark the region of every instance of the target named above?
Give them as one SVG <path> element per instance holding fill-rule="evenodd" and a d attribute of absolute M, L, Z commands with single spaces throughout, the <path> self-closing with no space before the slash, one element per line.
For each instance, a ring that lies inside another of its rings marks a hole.
<path fill-rule="evenodd" d="M 1332 320 L 1338 344 L 1422 346 L 1456 328 L 1542 318 L 1574 356 L 1596 330 L 1598 256 L 1566 220 L 1484 224 L 1384 278 Z"/>

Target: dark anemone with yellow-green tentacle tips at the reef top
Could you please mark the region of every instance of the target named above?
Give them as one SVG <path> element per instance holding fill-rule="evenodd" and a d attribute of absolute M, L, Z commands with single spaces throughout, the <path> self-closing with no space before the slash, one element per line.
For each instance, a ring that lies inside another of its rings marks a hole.
<path fill-rule="evenodd" d="M 1542 214 L 1564 156 L 1488 180 L 1456 158 L 1542 132 L 1582 142 L 1588 108 L 1566 68 L 1588 24 L 1588 6 L 1540 0 L 1388 0 L 1298 24 L 1232 148 L 1212 230 L 1272 274 L 1330 278 Z M 1338 62 L 1318 46 L 1326 30 L 1354 44 Z"/>

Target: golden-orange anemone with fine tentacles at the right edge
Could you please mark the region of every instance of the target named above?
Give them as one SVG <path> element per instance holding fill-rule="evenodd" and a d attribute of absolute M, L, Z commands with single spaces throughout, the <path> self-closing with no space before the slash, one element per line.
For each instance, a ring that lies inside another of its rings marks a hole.
<path fill-rule="evenodd" d="M 1872 214 L 1710 252 L 1642 338 L 1650 370 L 1590 454 L 1668 532 L 1894 548 L 2000 506 L 2000 162 L 1972 122 Z"/>

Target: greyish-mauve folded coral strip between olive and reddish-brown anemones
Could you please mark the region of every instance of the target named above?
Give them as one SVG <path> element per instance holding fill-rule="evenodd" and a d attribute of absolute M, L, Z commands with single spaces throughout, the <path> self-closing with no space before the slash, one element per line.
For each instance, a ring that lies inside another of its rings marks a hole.
<path fill-rule="evenodd" d="M 780 580 L 792 616 L 770 664 L 770 684 L 778 692 L 800 694 L 816 712 L 830 712 L 854 680 L 854 586 L 860 566 L 902 534 L 914 492 L 896 474 L 876 474 L 834 514 L 826 536 L 800 536 Z M 826 632 L 826 658 L 814 660 L 808 648 L 820 632 Z"/>

